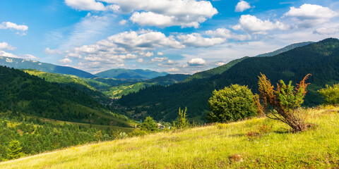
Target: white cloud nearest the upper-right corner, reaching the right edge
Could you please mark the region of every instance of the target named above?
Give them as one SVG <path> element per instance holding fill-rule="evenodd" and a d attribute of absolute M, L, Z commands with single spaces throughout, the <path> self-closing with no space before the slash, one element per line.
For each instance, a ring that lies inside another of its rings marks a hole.
<path fill-rule="evenodd" d="M 297 20 L 298 25 L 302 27 L 313 27 L 326 23 L 338 16 L 339 13 L 332 11 L 328 7 L 319 5 L 303 4 L 299 8 L 292 6 L 290 11 L 284 14 Z"/>

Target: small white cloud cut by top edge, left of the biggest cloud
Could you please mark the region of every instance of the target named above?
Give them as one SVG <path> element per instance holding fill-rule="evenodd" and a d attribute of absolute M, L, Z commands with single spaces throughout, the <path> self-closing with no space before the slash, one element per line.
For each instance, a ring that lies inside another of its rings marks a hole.
<path fill-rule="evenodd" d="M 65 0 L 66 5 L 82 11 L 105 11 L 107 8 L 95 0 Z"/>

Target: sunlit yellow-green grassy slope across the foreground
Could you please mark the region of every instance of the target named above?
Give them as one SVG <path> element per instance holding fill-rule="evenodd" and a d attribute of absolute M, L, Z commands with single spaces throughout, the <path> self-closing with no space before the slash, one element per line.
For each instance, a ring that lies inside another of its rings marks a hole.
<path fill-rule="evenodd" d="M 338 108 L 336 108 L 338 110 Z M 339 114 L 309 109 L 306 132 L 267 118 L 73 146 L 0 168 L 337 168 Z M 262 137 L 247 133 L 267 126 Z"/>

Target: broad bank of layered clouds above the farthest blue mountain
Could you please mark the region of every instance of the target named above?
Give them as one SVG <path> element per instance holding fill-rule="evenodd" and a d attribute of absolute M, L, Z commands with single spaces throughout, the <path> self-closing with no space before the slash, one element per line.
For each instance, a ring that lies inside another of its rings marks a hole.
<path fill-rule="evenodd" d="M 162 32 L 140 30 L 121 32 L 95 44 L 74 47 L 64 51 L 63 54 L 65 58 L 78 58 L 78 63 L 82 64 L 83 69 L 97 70 L 93 62 L 100 63 L 100 68 L 120 67 L 124 65 L 126 59 L 136 59 L 137 62 L 141 62 L 143 60 L 140 58 L 153 56 L 153 51 L 158 48 L 183 49 L 184 47 L 172 35 L 165 36 Z M 160 58 L 153 59 L 159 61 Z"/>

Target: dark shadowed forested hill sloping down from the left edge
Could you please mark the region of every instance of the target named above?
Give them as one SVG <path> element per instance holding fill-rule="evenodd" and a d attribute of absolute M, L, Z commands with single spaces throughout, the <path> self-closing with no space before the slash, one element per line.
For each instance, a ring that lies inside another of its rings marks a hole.
<path fill-rule="evenodd" d="M 119 115 L 111 113 L 84 92 L 3 66 L 0 66 L 1 112 L 80 123 L 128 126 L 126 120 L 119 119 Z"/>

